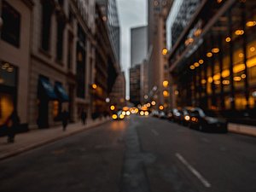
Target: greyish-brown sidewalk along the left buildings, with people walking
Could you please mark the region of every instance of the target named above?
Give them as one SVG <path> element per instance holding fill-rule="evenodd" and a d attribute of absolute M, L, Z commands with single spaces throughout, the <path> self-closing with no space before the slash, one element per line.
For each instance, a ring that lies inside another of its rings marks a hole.
<path fill-rule="evenodd" d="M 109 121 L 106 119 L 96 119 L 87 125 L 82 125 L 81 122 L 67 125 L 67 130 L 62 131 L 62 126 L 56 126 L 49 129 L 32 130 L 25 133 L 20 133 L 15 136 L 15 143 L 7 143 L 7 137 L 0 137 L 0 160 L 21 154 L 32 148 L 37 148 L 46 143 L 52 143 L 64 137 L 69 137 L 73 134 L 79 133 L 101 125 Z"/>

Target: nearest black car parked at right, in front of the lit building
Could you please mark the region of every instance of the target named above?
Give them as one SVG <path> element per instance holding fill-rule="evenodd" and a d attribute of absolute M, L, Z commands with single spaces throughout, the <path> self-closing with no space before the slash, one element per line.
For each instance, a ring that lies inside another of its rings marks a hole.
<path fill-rule="evenodd" d="M 192 108 L 189 113 L 189 127 L 200 131 L 227 132 L 227 121 L 219 117 L 214 111 L 204 111 L 201 108 Z"/>

